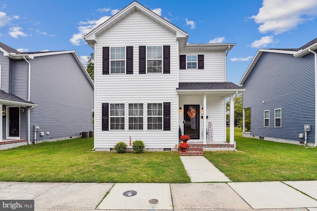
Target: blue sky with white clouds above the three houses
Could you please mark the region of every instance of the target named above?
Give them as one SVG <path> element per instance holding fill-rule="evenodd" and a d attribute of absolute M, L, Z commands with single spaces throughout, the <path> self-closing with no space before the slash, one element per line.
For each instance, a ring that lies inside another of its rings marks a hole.
<path fill-rule="evenodd" d="M 1 0 L 0 42 L 21 52 L 93 49 L 82 36 L 132 0 Z M 238 84 L 259 48 L 317 38 L 317 0 L 138 0 L 189 34 L 189 43 L 236 43 L 227 81 Z"/>

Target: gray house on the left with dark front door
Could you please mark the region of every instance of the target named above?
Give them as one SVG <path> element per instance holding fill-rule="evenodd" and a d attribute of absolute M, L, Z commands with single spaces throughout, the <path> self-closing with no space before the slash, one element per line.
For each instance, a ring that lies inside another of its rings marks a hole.
<path fill-rule="evenodd" d="M 75 51 L 19 52 L 0 42 L 0 149 L 92 129 L 94 83 Z"/>

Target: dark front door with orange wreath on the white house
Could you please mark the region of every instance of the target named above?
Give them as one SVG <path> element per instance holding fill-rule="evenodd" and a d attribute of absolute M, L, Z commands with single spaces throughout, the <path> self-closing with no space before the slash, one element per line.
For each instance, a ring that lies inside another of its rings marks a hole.
<path fill-rule="evenodd" d="M 199 105 L 184 105 L 184 134 L 199 139 Z"/>

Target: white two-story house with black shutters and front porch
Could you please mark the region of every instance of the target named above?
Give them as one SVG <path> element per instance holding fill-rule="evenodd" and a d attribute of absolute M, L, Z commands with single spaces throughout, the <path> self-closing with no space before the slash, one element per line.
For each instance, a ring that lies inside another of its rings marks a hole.
<path fill-rule="evenodd" d="M 225 99 L 244 90 L 226 81 L 235 44 L 189 44 L 186 32 L 136 1 L 84 39 L 95 50 L 96 150 L 130 140 L 174 150 L 179 129 L 189 142 L 225 144 Z"/>

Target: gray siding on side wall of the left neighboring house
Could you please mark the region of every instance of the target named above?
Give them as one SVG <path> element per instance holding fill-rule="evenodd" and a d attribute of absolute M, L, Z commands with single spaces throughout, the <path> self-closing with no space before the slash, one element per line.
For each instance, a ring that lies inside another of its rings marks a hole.
<path fill-rule="evenodd" d="M 30 101 L 36 104 L 30 110 L 31 141 L 35 125 L 40 126 L 37 140 L 79 136 L 81 131 L 91 130 L 93 87 L 74 56 L 65 53 L 29 61 Z"/>

